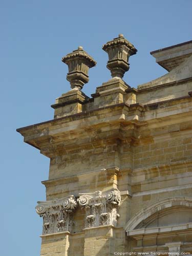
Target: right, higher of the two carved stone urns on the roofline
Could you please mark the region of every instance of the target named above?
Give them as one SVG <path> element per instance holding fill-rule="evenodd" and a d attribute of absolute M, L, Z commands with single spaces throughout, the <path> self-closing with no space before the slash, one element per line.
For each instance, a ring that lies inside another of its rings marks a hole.
<path fill-rule="evenodd" d="M 111 71 L 111 76 L 122 78 L 130 69 L 129 57 L 136 54 L 137 49 L 123 37 L 123 34 L 107 42 L 102 49 L 108 53 L 109 61 L 106 67 Z"/>

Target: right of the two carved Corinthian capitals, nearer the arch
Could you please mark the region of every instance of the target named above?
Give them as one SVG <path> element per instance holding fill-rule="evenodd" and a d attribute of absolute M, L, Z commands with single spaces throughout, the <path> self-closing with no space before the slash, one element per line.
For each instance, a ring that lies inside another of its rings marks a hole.
<path fill-rule="evenodd" d="M 102 225 L 116 226 L 119 217 L 117 211 L 121 201 L 118 190 L 110 190 L 104 193 L 96 191 L 86 195 L 79 194 L 79 196 L 77 201 L 86 211 L 86 228 Z"/>

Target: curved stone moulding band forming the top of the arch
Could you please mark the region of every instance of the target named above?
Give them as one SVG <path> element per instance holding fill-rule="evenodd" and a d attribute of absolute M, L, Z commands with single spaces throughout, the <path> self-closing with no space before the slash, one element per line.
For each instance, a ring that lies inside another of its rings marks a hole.
<path fill-rule="evenodd" d="M 192 198 L 189 197 L 174 197 L 167 198 L 162 201 L 156 202 L 140 210 L 134 217 L 132 217 L 125 225 L 127 234 L 129 231 L 134 230 L 142 221 L 148 217 L 156 214 L 157 212 L 168 209 L 170 207 L 180 206 L 192 208 Z"/>

